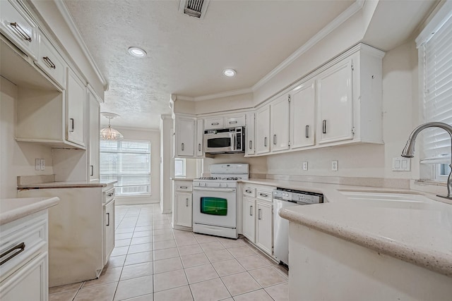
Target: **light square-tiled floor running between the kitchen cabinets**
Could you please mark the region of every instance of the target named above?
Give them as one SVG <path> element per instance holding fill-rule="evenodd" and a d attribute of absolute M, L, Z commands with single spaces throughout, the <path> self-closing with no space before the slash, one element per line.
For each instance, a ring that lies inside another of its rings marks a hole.
<path fill-rule="evenodd" d="M 158 204 L 116 207 L 100 278 L 49 288 L 50 301 L 288 300 L 287 271 L 242 239 L 171 228 Z"/>

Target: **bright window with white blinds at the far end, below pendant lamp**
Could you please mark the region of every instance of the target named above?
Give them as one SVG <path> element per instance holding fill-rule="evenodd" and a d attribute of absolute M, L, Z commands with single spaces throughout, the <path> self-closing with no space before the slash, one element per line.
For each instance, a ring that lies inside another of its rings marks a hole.
<path fill-rule="evenodd" d="M 100 140 L 100 180 L 116 195 L 150 194 L 150 141 Z"/>

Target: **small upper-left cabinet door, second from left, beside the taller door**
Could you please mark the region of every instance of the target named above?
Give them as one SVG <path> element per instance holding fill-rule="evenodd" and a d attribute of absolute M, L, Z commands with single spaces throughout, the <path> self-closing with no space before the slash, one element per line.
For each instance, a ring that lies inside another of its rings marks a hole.
<path fill-rule="evenodd" d="M 66 88 L 66 62 L 42 32 L 39 33 L 39 47 L 35 63 L 61 88 Z"/>

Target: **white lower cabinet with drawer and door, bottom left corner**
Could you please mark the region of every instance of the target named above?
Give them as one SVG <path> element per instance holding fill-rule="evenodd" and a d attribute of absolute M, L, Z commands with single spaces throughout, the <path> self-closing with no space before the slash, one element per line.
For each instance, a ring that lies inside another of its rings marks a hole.
<path fill-rule="evenodd" d="M 0 300 L 48 300 L 47 216 L 39 211 L 0 226 Z"/>

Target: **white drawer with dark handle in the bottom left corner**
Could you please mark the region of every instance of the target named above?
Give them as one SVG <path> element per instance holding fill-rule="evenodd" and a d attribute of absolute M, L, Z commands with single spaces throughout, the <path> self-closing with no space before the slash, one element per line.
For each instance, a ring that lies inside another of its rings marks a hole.
<path fill-rule="evenodd" d="M 40 212 L 32 219 L 25 216 L 11 225 L 11 228 L 9 224 L 0 228 L 0 254 L 4 255 L 0 261 L 6 261 L 0 266 L 0 282 L 37 254 L 47 252 L 47 214 Z"/>

